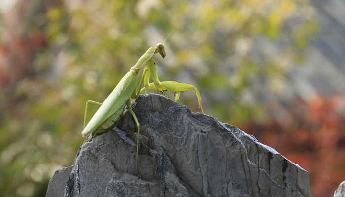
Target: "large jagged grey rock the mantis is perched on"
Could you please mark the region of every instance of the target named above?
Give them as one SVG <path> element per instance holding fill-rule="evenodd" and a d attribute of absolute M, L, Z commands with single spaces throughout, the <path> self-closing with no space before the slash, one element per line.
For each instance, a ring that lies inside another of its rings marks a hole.
<path fill-rule="evenodd" d="M 161 95 L 131 104 L 142 178 L 137 127 L 125 110 L 117 127 L 54 174 L 47 197 L 312 197 L 307 171 L 235 126 Z"/>

